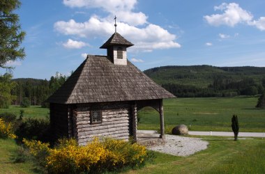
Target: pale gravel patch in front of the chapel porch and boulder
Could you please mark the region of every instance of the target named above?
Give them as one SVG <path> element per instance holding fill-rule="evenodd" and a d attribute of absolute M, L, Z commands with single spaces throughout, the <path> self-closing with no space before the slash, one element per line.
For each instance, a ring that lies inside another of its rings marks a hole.
<path fill-rule="evenodd" d="M 165 145 L 150 147 L 149 150 L 185 157 L 205 150 L 209 144 L 202 139 L 175 135 L 166 135 L 166 141 Z"/>

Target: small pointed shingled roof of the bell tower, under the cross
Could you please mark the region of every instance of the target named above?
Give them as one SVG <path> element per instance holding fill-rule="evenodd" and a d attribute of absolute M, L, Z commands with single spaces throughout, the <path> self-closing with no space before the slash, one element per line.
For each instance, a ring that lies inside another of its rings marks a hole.
<path fill-rule="evenodd" d="M 105 44 L 103 44 L 100 48 L 105 48 L 107 49 L 108 47 L 112 45 L 124 45 L 126 47 L 130 47 L 133 44 L 123 38 L 119 33 L 114 33 Z"/>

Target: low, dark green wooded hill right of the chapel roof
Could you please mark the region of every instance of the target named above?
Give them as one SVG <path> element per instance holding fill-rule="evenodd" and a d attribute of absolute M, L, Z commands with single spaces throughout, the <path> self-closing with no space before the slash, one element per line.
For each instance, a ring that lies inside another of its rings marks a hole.
<path fill-rule="evenodd" d="M 265 68 L 250 66 L 163 66 L 144 73 L 179 97 L 255 95 L 265 88 Z"/>

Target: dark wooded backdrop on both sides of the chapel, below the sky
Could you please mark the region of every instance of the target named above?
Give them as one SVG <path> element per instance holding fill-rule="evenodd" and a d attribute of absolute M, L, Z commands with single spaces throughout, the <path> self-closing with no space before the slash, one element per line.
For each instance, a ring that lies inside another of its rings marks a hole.
<path fill-rule="evenodd" d="M 177 97 L 234 97 L 258 95 L 264 92 L 265 68 L 218 68 L 209 65 L 165 66 L 151 68 L 144 73 Z M 5 74 L 0 79 L 1 107 L 15 105 L 41 105 L 48 107 L 47 97 L 52 95 L 68 77 L 59 72 L 47 79 L 12 79 Z M 6 82 L 5 82 L 6 81 Z M 8 95 L 10 94 L 10 95 Z M 6 102 L 6 103 L 4 103 Z"/>

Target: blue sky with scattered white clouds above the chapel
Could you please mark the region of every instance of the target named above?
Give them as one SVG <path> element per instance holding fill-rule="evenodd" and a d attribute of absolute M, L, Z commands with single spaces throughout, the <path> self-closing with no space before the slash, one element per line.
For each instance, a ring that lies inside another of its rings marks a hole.
<path fill-rule="evenodd" d="M 140 70 L 164 65 L 265 66 L 265 1 L 21 0 L 27 56 L 14 78 L 70 74 L 117 32 Z M 0 70 L 3 74 L 4 70 Z"/>

